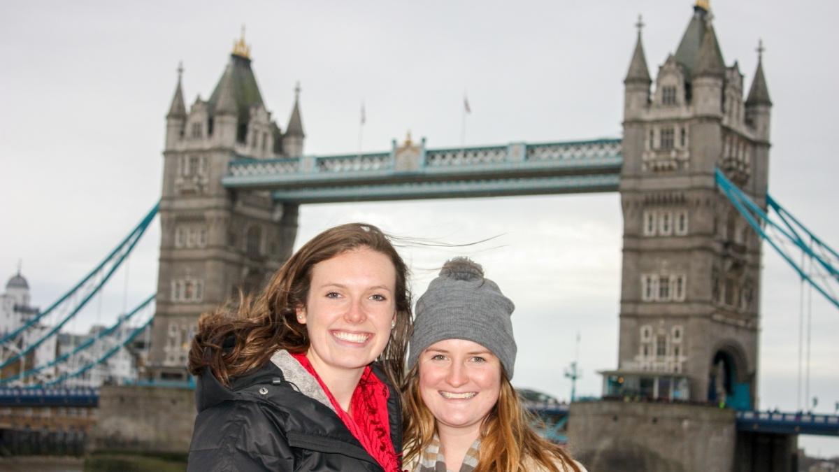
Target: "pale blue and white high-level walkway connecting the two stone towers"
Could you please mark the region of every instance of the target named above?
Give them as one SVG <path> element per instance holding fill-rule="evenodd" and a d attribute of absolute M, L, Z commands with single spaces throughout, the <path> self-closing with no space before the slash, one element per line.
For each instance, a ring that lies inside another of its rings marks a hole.
<path fill-rule="evenodd" d="M 322 203 L 618 191 L 621 139 L 233 160 L 223 186 Z"/>

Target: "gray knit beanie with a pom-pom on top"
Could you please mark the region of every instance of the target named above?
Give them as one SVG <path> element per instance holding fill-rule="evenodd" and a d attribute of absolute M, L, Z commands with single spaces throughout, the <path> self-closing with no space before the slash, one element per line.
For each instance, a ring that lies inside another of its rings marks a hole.
<path fill-rule="evenodd" d="M 516 341 L 510 315 L 515 306 L 483 268 L 466 257 L 449 260 L 417 301 L 409 369 L 426 348 L 444 339 L 466 339 L 489 349 L 513 378 Z"/>

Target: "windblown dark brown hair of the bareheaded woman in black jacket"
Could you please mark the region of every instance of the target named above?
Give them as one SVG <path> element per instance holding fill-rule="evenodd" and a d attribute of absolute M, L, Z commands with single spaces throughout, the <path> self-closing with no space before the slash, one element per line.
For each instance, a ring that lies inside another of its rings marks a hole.
<path fill-rule="evenodd" d="M 299 307 L 306 306 L 312 268 L 324 260 L 354 249 L 378 251 L 396 269 L 396 326 L 378 360 L 393 385 L 404 379 L 405 351 L 413 327 L 408 267 L 388 236 L 364 223 L 348 223 L 329 228 L 304 244 L 274 274 L 256 297 L 239 296 L 237 307 L 228 304 L 199 318 L 198 333 L 190 349 L 189 370 L 201 375 L 209 367 L 216 379 L 230 385 L 230 378 L 253 370 L 271 359 L 278 349 L 305 353 L 309 335 L 296 319 Z"/>

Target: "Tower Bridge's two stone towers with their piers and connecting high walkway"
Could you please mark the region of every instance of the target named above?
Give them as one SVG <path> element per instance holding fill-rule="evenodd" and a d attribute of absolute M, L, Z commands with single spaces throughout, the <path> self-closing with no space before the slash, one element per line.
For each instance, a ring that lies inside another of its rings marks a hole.
<path fill-rule="evenodd" d="M 300 89 L 283 129 L 263 102 L 243 38 L 207 100 L 187 108 L 179 72 L 154 210 L 161 239 L 149 385 L 96 392 L 107 421 L 94 446 L 124 438 L 127 447 L 185 450 L 188 437 L 161 440 L 162 418 L 143 412 L 155 401 L 188 403 L 169 387 L 190 380 L 198 316 L 239 289 L 257 290 L 289 258 L 301 204 L 604 191 L 619 192 L 623 212 L 618 365 L 602 372 L 604 397 L 618 401 L 534 411 L 563 427 L 571 417 L 568 433 L 581 438 L 578 454 L 591 469 L 631 469 L 621 461 L 647 454 L 658 465 L 639 468 L 691 470 L 713 456 L 705 469 L 749 470 L 765 453 L 782 458 L 781 470 L 796 434 L 839 434 L 835 417 L 755 411 L 761 243 L 769 238 L 755 218 L 774 202 L 762 49 L 747 89 L 737 62 L 723 59 L 707 2 L 697 2 L 653 77 L 640 26 L 619 139 L 435 149 L 409 135 L 383 152 L 307 155 Z M 839 281 L 835 266 L 825 265 Z M 190 411 L 164 412 L 175 430 L 189 431 Z M 646 438 L 632 433 L 642 424 Z M 690 454 L 679 453 L 685 448 Z"/>

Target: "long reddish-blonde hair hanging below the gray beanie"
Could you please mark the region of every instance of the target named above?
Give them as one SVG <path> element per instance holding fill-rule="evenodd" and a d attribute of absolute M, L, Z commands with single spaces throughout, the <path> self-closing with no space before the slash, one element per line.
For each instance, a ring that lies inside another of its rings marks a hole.
<path fill-rule="evenodd" d="M 420 458 L 436 429 L 434 415 L 420 396 L 419 363 L 410 370 L 403 391 L 404 463 L 409 463 Z M 550 443 L 530 427 L 532 419 L 502 368 L 498 401 L 481 425 L 481 451 L 475 472 L 528 472 L 529 464 L 550 472 L 580 472 L 560 445 Z"/>

